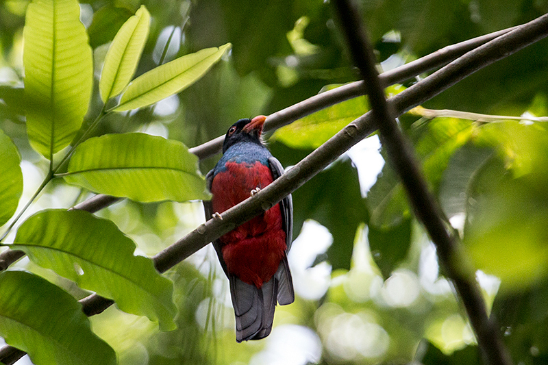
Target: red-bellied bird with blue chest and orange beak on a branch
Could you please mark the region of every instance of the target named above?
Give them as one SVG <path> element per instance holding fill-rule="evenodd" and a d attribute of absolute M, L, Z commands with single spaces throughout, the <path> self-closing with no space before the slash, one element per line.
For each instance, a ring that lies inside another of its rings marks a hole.
<path fill-rule="evenodd" d="M 266 116 L 240 119 L 227 131 L 223 157 L 206 179 L 212 200 L 204 201 L 206 218 L 219 217 L 240 201 L 271 184 L 284 168 L 261 140 Z M 291 244 L 291 195 L 251 221 L 213 242 L 230 281 L 236 314 L 236 341 L 269 336 L 276 301 L 295 300 L 287 253 Z"/>

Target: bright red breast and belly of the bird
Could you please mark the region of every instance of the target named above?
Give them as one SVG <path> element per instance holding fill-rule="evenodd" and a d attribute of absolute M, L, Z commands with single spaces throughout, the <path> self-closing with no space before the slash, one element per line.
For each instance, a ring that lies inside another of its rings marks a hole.
<path fill-rule="evenodd" d="M 268 166 L 228 162 L 212 181 L 212 208 L 222 213 L 273 181 Z M 286 233 L 279 204 L 219 238 L 229 273 L 258 288 L 269 281 L 285 255 Z"/>

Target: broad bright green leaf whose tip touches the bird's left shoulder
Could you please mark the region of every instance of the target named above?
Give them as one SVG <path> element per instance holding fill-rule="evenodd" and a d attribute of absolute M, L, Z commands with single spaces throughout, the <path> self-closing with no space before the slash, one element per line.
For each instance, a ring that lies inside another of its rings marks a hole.
<path fill-rule="evenodd" d="M 63 175 L 69 184 L 142 202 L 209 198 L 196 155 L 181 142 L 142 133 L 86 140 Z"/>

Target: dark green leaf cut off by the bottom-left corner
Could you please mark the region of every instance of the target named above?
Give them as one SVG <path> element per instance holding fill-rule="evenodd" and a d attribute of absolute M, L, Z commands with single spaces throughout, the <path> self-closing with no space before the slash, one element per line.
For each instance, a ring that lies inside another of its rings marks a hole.
<path fill-rule="evenodd" d="M 69 293 L 23 271 L 0 273 L 0 336 L 40 365 L 116 364 Z"/>

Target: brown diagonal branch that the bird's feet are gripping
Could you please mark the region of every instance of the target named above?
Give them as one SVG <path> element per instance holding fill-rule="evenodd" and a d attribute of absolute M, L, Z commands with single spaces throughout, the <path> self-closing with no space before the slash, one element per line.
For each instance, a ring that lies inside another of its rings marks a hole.
<path fill-rule="evenodd" d="M 452 64 L 445 66 L 445 68 L 426 77 L 390 99 L 390 103 L 393 104 L 395 109 L 395 114 L 398 116 L 403 114 L 403 112 L 414 108 L 414 106 L 419 105 L 419 103 L 438 95 L 438 93 L 446 90 L 460 79 L 471 75 L 471 73 L 477 71 L 477 69 L 488 66 L 488 64 L 495 62 L 495 60 L 505 58 L 547 35 L 548 16 L 542 16 L 535 21 L 517 27 L 512 32 L 509 32 L 508 36 L 501 36 L 491 40 L 484 47 L 480 47 L 480 51 L 475 50 L 466 54 L 463 57 L 466 61 L 460 62 L 460 59 L 456 60 Z M 501 53 L 499 49 L 506 49 L 506 53 Z M 496 53 L 497 57 L 492 57 L 490 53 Z M 432 76 L 434 75 L 436 76 L 432 79 Z M 433 88 L 432 84 L 435 84 L 436 88 Z M 273 118 L 274 115 L 275 114 L 272 114 L 271 117 Z M 279 121 L 283 121 L 284 117 L 285 116 L 278 116 L 278 118 L 280 118 Z M 269 123 L 269 128 L 272 129 L 271 123 Z M 254 197 L 223 212 L 223 214 L 221 214 L 223 217 L 222 221 L 210 219 L 181 240 L 155 255 L 153 260 L 156 268 L 160 272 L 164 272 L 168 268 L 186 259 L 186 257 L 192 253 L 195 253 L 206 246 L 206 244 L 212 240 L 219 238 L 223 234 L 234 229 L 236 225 L 253 218 L 254 215 L 260 214 L 265 209 L 268 209 L 282 200 L 287 194 L 299 188 L 308 181 L 308 179 L 322 171 L 323 168 L 336 160 L 339 155 L 345 153 L 350 147 L 371 134 L 374 130 L 375 127 L 373 127 L 372 113 L 368 112 L 363 116 L 360 116 L 360 118 L 357 118 L 347 125 L 347 127 L 339 131 L 338 134 L 330 138 L 327 142 L 322 144 L 321 147 L 310 153 L 310 155 L 293 166 L 293 168 L 290 168 L 282 177 L 279 177 L 279 179 L 276 179 L 272 184 L 266 186 L 266 188 L 258 192 Z M 208 153 L 214 153 L 212 151 L 216 151 L 218 148 L 215 147 L 216 144 L 219 143 L 218 140 L 219 138 L 216 138 L 215 140 L 196 147 L 195 153 L 199 154 L 203 152 L 203 156 L 207 157 Z M 205 158 L 203 156 L 201 158 Z M 103 199 L 103 197 L 99 196 L 99 198 L 96 199 L 99 201 L 100 199 Z M 97 203 L 97 201 L 95 203 Z M 85 206 L 84 203 L 82 203 L 82 207 Z M 97 204 L 95 204 L 95 206 L 97 207 Z M 102 308 L 104 310 L 112 304 L 110 299 L 104 299 L 97 294 L 92 294 L 91 296 L 82 299 L 80 302 L 84 305 L 84 312 L 89 312 L 91 314 L 98 312 L 97 308 Z M 88 306 L 93 306 L 96 309 L 90 310 L 90 307 Z M 101 312 L 101 310 L 99 310 L 99 312 Z M 23 353 L 23 351 L 20 352 Z M 6 362 L 7 357 L 3 356 L 8 353 L 13 353 L 12 347 L 5 346 L 3 349 L 0 349 L 0 361 L 5 362 L 5 364 L 13 364 L 13 362 Z"/>

